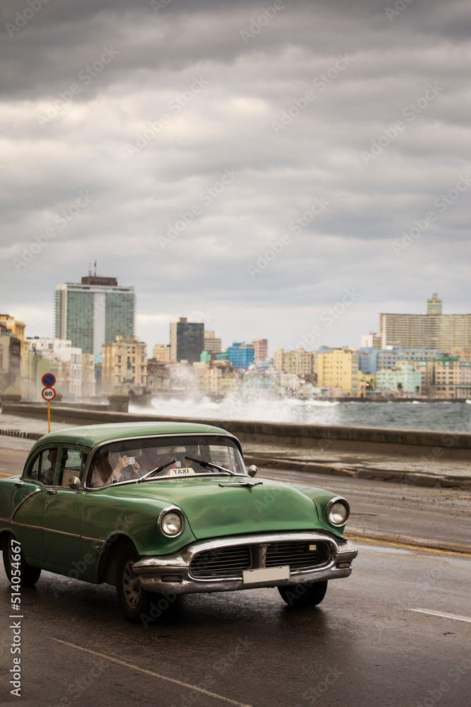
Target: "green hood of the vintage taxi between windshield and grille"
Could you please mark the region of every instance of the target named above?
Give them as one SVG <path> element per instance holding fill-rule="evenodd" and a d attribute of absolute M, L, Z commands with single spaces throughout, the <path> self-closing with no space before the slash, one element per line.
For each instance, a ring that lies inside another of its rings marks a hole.
<path fill-rule="evenodd" d="M 299 489 L 267 479 L 257 486 L 239 486 L 239 481 L 250 484 L 256 480 L 200 477 L 147 481 L 131 488 L 141 498 L 158 500 L 159 506 L 163 503 L 181 508 L 197 539 L 247 532 L 313 530 L 323 525 L 319 524 L 316 504 Z M 124 491 L 124 487 L 121 489 Z M 129 492 L 130 487 L 126 490 Z"/>

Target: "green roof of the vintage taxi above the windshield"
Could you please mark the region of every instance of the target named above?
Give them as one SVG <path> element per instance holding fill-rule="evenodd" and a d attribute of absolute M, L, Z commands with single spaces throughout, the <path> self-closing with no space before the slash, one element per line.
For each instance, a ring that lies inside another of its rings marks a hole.
<path fill-rule="evenodd" d="M 103 442 L 119 440 L 129 437 L 147 437 L 153 435 L 174 434 L 218 434 L 232 437 L 232 434 L 220 427 L 201 425 L 189 422 L 117 422 L 105 425 L 88 425 L 72 427 L 67 430 L 50 432 L 44 435 L 34 445 L 52 444 L 81 444 L 95 447 Z"/>

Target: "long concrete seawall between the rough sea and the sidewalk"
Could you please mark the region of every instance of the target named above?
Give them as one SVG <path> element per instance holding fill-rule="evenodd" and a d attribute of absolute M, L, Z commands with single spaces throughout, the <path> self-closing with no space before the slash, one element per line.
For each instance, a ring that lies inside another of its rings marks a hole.
<path fill-rule="evenodd" d="M 21 417 L 46 418 L 45 404 L 4 403 L 2 411 Z M 169 418 L 148 414 L 116 413 L 100 406 L 51 404 L 54 422 L 75 425 L 94 425 L 114 422 L 189 421 L 222 427 L 232 432 L 242 442 L 263 445 L 285 445 L 290 448 L 311 450 L 350 450 L 377 454 L 405 455 L 431 459 L 471 460 L 471 433 L 436 432 L 422 430 L 394 430 L 371 427 L 346 427 L 328 425 L 302 425 L 293 423 L 258 422 L 245 420 Z"/>

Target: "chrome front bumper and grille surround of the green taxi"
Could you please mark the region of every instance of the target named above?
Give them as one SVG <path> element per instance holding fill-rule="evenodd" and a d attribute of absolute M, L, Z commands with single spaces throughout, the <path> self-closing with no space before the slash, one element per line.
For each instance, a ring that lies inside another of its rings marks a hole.
<path fill-rule="evenodd" d="M 294 569 L 290 571 L 289 579 L 263 580 L 261 582 L 244 583 L 241 576 L 234 578 L 194 578 L 191 576 L 192 559 L 203 551 L 219 550 L 229 547 L 251 547 L 250 569 L 265 568 L 266 547 L 278 542 L 326 543 L 330 549 L 327 561 L 309 569 Z M 358 550 L 345 540 L 340 542 L 324 532 L 281 532 L 254 535 L 232 535 L 231 537 L 215 538 L 195 542 L 179 553 L 156 557 L 145 557 L 136 562 L 133 571 L 141 586 L 149 592 L 162 594 L 174 593 L 192 594 L 196 592 L 232 592 L 239 589 L 254 589 L 257 587 L 278 587 L 305 582 L 321 582 L 322 580 L 348 577 L 352 572 L 351 563 Z M 339 566 L 340 565 L 340 566 Z"/>

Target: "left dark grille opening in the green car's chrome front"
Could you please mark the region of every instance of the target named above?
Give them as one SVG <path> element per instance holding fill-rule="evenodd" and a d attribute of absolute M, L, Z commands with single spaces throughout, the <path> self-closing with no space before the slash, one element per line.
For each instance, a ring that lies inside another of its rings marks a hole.
<path fill-rule="evenodd" d="M 242 579 L 242 571 L 251 564 L 248 545 L 221 547 L 198 552 L 190 563 L 190 574 L 195 579 Z"/>

